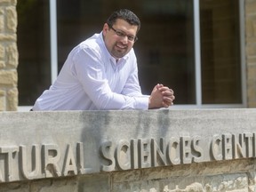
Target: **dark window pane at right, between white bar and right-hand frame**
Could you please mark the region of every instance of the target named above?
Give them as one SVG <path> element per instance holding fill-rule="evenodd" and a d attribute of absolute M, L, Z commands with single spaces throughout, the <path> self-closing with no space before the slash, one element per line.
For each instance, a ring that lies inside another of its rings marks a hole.
<path fill-rule="evenodd" d="M 239 2 L 200 1 L 203 104 L 242 103 Z"/>

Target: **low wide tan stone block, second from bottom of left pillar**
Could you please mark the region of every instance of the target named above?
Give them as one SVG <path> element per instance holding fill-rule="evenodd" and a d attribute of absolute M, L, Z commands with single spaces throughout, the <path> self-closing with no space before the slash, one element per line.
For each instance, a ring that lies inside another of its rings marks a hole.
<path fill-rule="evenodd" d="M 0 84 L 17 85 L 18 76 L 16 70 L 0 71 Z"/>

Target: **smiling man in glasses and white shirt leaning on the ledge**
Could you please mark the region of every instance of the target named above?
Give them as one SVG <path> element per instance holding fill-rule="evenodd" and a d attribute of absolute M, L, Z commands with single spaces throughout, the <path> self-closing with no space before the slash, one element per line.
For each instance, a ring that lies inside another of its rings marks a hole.
<path fill-rule="evenodd" d="M 140 20 L 129 10 L 113 12 L 100 34 L 78 44 L 60 75 L 36 100 L 33 110 L 110 110 L 168 108 L 174 95 L 156 84 L 142 95 L 132 49 Z"/>

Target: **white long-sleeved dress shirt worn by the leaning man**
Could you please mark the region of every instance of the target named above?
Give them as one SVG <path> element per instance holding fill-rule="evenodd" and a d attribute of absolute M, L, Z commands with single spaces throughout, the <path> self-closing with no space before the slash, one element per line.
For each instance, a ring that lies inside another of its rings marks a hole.
<path fill-rule="evenodd" d="M 78 44 L 33 110 L 148 109 L 133 49 L 116 62 L 102 32 Z"/>

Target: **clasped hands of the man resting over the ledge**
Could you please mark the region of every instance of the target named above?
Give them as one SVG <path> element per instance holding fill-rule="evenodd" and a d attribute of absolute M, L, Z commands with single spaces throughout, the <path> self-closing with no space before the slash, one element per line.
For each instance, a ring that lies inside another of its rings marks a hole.
<path fill-rule="evenodd" d="M 175 100 L 174 92 L 163 84 L 156 84 L 148 100 L 148 108 L 169 108 Z"/>

